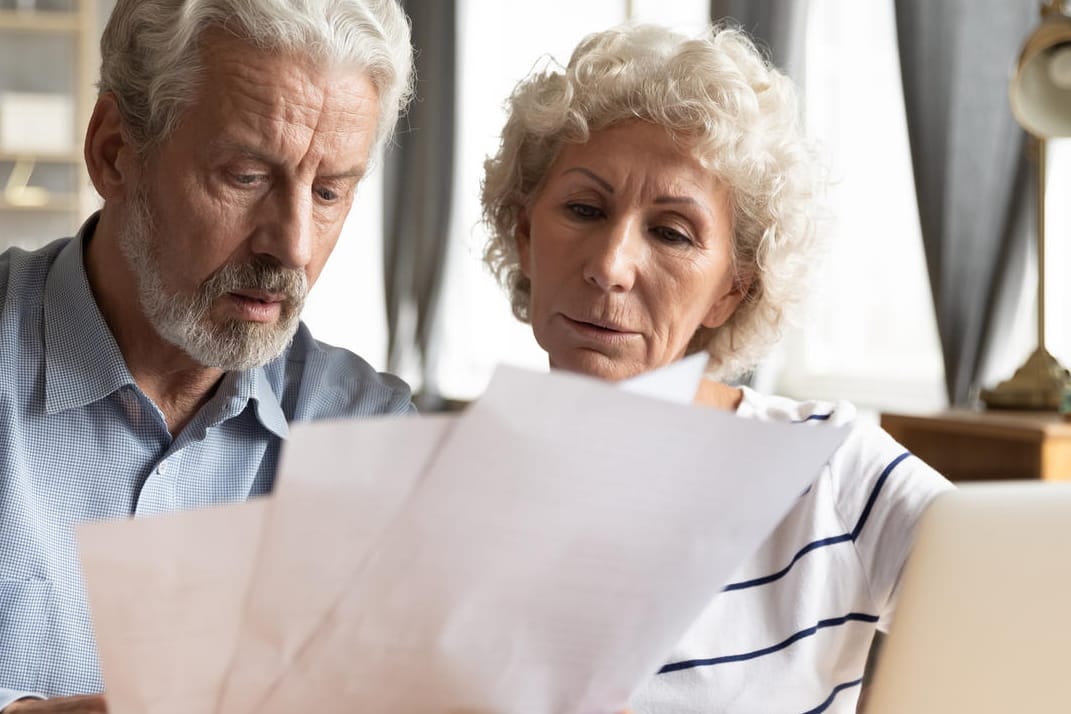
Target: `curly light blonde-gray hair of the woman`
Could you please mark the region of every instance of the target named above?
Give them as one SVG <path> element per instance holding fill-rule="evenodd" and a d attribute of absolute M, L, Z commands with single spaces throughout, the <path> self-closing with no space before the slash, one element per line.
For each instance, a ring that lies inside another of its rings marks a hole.
<path fill-rule="evenodd" d="M 724 26 L 690 39 L 650 25 L 588 35 L 569 65 L 517 85 L 498 153 L 484 164 L 484 261 L 528 321 L 531 284 L 515 231 L 564 142 L 630 119 L 669 132 L 729 189 L 734 267 L 744 300 L 722 326 L 700 328 L 689 352 L 730 379 L 781 337 L 815 262 L 815 153 L 803 137 L 796 89 L 743 32 Z"/>

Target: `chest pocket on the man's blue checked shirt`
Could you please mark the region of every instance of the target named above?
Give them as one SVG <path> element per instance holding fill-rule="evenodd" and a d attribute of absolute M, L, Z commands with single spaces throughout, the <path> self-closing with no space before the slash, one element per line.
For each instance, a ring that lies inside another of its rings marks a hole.
<path fill-rule="evenodd" d="M 35 690 L 48 641 L 51 584 L 0 577 L 0 687 Z"/>

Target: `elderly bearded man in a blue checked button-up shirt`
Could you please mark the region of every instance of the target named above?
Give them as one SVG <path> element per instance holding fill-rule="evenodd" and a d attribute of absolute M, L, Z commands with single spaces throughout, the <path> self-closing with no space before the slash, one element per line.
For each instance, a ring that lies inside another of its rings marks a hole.
<path fill-rule="evenodd" d="M 103 210 L 0 256 L 3 712 L 105 711 L 76 523 L 265 493 L 288 422 L 411 410 L 299 322 L 409 96 L 396 0 L 119 0 L 102 55 Z"/>

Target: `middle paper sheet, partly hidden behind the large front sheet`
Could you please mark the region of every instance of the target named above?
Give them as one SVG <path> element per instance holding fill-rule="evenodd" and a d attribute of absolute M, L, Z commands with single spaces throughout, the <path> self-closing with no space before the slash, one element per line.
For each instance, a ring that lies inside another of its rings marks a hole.
<path fill-rule="evenodd" d="M 452 424 L 426 416 L 291 427 L 218 711 L 257 711 L 405 506 Z"/>

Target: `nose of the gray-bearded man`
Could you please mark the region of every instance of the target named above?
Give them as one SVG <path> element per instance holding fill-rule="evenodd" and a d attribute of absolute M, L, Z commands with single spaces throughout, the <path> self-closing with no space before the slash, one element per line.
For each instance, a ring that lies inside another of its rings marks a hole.
<path fill-rule="evenodd" d="M 278 187 L 260 206 L 252 247 L 256 255 L 271 256 L 284 268 L 300 270 L 312 260 L 314 236 L 312 194 Z"/>

